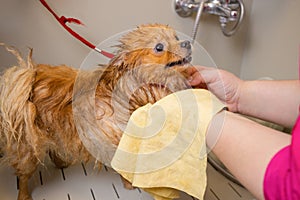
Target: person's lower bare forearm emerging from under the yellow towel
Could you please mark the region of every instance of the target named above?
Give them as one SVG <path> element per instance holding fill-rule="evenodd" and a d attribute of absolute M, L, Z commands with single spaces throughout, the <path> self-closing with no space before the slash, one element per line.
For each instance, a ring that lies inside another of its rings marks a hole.
<path fill-rule="evenodd" d="M 206 135 L 207 146 L 229 171 L 258 199 L 268 163 L 291 136 L 262 126 L 238 114 L 222 111 L 214 116 Z"/>

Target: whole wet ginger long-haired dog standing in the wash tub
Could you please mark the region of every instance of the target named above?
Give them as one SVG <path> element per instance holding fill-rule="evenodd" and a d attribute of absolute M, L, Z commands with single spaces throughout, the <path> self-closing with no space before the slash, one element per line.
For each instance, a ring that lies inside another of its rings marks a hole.
<path fill-rule="evenodd" d="M 169 26 L 141 25 L 119 42 L 108 65 L 82 73 L 68 66 L 34 64 L 31 52 L 25 62 L 7 47 L 19 66 L 7 69 L 0 80 L 0 158 L 19 177 L 18 200 L 32 199 L 28 181 L 46 156 L 59 168 L 91 158 L 109 165 L 134 110 L 189 87 L 185 69 L 191 45 L 179 41 Z M 98 77 L 92 100 L 82 98 L 80 89 L 74 92 L 79 74 L 79 88 Z M 79 125 L 74 122 L 75 101 L 87 119 Z M 85 109 L 89 105 L 93 112 Z M 97 124 L 89 124 L 89 118 Z M 101 155 L 88 151 L 77 131 L 81 125 L 102 135 Z"/>

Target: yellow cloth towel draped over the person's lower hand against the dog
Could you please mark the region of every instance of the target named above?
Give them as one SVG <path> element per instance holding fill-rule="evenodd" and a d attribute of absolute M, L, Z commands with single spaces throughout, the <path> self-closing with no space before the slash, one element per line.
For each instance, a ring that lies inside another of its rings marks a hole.
<path fill-rule="evenodd" d="M 179 191 L 203 199 L 205 133 L 212 117 L 224 107 L 209 91 L 189 89 L 137 109 L 112 167 L 155 200 L 179 198 Z"/>

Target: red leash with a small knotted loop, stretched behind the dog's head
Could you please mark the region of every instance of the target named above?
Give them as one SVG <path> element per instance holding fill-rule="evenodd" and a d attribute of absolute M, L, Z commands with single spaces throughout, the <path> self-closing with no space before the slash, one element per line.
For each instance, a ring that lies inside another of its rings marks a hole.
<path fill-rule="evenodd" d="M 76 33 L 75 31 L 73 31 L 70 27 L 67 26 L 67 23 L 75 23 L 75 24 L 79 24 L 79 25 L 83 25 L 83 23 L 75 18 L 67 18 L 65 16 L 61 16 L 59 17 L 51 8 L 50 6 L 46 3 L 45 0 L 40 0 L 40 2 L 47 8 L 47 10 L 55 17 L 55 19 L 71 34 L 73 35 L 75 38 L 77 38 L 78 40 L 80 40 L 81 42 L 83 42 L 85 45 L 87 45 L 88 47 L 94 49 L 95 51 L 101 53 L 102 55 L 108 57 L 108 58 L 113 58 L 114 54 L 111 54 L 109 52 L 103 51 L 101 49 L 98 49 L 95 45 L 93 45 L 92 43 L 90 43 L 89 41 L 87 41 L 86 39 L 84 39 L 83 37 L 81 37 L 78 33 Z"/>

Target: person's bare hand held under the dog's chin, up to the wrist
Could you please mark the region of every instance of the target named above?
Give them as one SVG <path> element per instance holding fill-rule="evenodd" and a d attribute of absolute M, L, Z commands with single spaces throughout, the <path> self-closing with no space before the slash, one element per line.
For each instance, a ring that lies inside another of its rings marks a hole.
<path fill-rule="evenodd" d="M 206 88 L 228 106 L 232 112 L 238 112 L 241 79 L 225 70 L 212 67 L 193 66 L 187 69 L 189 83 L 195 88 Z"/>

